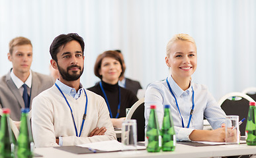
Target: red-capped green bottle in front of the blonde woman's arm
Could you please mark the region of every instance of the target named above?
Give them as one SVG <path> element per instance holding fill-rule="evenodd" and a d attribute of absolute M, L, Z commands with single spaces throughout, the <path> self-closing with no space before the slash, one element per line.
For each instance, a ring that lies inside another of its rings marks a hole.
<path fill-rule="evenodd" d="M 155 113 L 155 105 L 150 106 L 150 114 L 146 132 L 146 141 L 148 142 L 148 152 L 159 152 L 161 146 L 161 138 L 159 139 L 159 126 L 157 115 Z"/>

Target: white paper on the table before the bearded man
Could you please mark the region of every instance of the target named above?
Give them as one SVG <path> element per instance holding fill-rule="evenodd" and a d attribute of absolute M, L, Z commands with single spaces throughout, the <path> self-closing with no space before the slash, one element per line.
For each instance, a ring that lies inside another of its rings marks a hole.
<path fill-rule="evenodd" d="M 101 151 L 120 151 L 122 149 L 132 149 L 132 148 L 118 142 L 117 140 L 108 140 L 108 141 L 103 141 L 103 142 L 95 142 L 95 143 L 91 143 L 91 144 L 81 144 L 81 145 L 77 145 L 77 146 L 88 147 L 91 149 L 98 149 Z M 146 149 L 146 147 L 137 145 L 137 149 Z"/>

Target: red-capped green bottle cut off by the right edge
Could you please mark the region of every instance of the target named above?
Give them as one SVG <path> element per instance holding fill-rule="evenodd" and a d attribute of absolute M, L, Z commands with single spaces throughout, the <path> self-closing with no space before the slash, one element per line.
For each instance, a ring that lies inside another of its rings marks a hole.
<path fill-rule="evenodd" d="M 256 113 L 255 102 L 249 102 L 249 111 L 247 117 L 247 124 L 245 128 L 245 138 L 247 145 L 256 145 Z"/>

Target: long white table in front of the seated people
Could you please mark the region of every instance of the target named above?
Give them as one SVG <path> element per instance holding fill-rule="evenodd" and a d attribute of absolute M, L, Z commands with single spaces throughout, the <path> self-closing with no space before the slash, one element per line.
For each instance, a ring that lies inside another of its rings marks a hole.
<path fill-rule="evenodd" d="M 118 151 L 109 153 L 90 153 L 90 154 L 74 154 L 53 147 L 44 147 L 35 149 L 35 153 L 43 155 L 44 157 L 87 157 L 87 158 L 169 158 L 169 157 L 223 157 L 232 155 L 252 155 L 256 154 L 256 146 L 241 145 L 212 145 L 204 147 L 194 147 L 190 145 L 177 144 L 175 151 L 148 153 L 146 150 L 140 151 Z"/>

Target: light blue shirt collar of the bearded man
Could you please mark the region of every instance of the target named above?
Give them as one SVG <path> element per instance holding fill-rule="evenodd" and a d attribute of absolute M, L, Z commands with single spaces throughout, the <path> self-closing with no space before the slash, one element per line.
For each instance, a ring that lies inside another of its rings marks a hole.
<path fill-rule="evenodd" d="M 76 92 L 75 88 L 71 88 L 64 83 L 60 82 L 60 80 L 56 80 L 56 84 L 60 87 L 63 93 L 70 95 L 71 97 L 77 99 L 81 93 L 83 92 L 83 86 L 80 84 L 79 90 Z"/>

